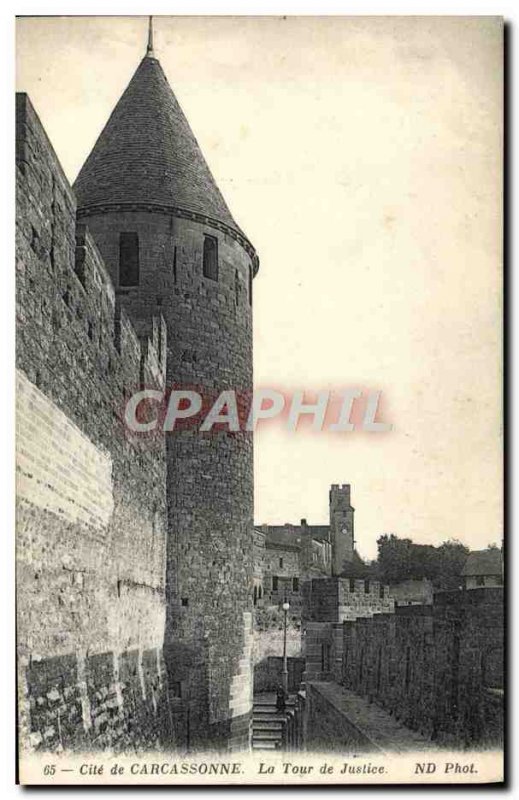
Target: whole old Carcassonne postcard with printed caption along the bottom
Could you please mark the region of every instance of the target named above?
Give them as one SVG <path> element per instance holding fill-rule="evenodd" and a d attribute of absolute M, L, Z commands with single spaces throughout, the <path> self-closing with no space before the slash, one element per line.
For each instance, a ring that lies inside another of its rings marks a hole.
<path fill-rule="evenodd" d="M 502 782 L 501 18 L 16 27 L 20 782 Z"/>

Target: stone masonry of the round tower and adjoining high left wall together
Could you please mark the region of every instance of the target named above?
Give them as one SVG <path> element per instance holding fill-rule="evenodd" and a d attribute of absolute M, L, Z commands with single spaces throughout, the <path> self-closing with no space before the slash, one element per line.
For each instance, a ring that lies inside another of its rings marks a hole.
<path fill-rule="evenodd" d="M 252 434 L 122 415 L 142 387 L 248 397 L 257 256 L 152 52 L 73 189 L 25 95 L 17 124 L 23 746 L 247 747 Z"/>

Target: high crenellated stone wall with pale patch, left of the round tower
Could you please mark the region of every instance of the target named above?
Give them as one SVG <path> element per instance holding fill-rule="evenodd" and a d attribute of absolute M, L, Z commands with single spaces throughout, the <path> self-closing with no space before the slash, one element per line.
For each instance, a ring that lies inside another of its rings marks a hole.
<path fill-rule="evenodd" d="M 17 97 L 20 744 L 171 741 L 162 655 L 166 462 L 124 403 L 163 386 L 163 322 L 137 336 L 26 95 Z"/>

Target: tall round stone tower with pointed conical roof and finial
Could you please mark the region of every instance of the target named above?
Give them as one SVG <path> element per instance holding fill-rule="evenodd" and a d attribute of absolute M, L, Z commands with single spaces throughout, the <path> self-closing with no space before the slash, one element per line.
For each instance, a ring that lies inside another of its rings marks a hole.
<path fill-rule="evenodd" d="M 74 186 L 137 331 L 160 312 L 167 383 L 252 389 L 254 248 L 216 186 L 154 55 L 145 57 Z M 248 744 L 252 706 L 252 434 L 167 439 L 164 650 L 178 739 Z"/>

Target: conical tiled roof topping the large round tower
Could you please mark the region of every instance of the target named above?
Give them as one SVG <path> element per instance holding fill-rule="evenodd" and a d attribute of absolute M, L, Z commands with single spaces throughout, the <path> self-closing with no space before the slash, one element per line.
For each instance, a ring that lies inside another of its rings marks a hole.
<path fill-rule="evenodd" d="M 156 204 L 232 218 L 159 62 L 146 55 L 74 184 L 78 208 Z"/>

